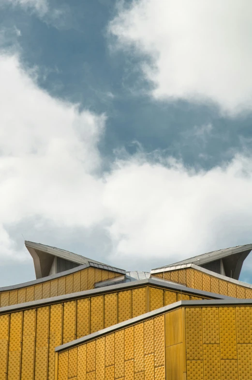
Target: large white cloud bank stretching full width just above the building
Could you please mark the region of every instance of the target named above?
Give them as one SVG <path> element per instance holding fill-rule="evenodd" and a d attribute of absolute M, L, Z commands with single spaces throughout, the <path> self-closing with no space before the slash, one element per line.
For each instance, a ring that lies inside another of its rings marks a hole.
<path fill-rule="evenodd" d="M 104 115 L 52 98 L 15 56 L 0 55 L 0 83 L 1 262 L 24 258 L 7 231 L 27 218 L 64 232 L 105 230 L 110 262 L 127 269 L 250 242 L 251 158 L 194 172 L 142 153 L 102 175 Z"/>

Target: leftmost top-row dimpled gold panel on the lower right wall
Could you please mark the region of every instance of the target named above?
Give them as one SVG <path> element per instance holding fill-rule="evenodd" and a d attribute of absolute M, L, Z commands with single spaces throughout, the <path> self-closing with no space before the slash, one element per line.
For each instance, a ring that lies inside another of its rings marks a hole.
<path fill-rule="evenodd" d="M 186 308 L 186 358 L 187 360 L 202 360 L 202 315 L 201 308 Z"/>

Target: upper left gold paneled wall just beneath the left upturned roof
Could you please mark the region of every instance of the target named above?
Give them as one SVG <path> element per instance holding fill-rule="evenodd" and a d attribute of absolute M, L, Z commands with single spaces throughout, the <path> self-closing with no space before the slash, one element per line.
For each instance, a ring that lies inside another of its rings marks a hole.
<path fill-rule="evenodd" d="M 94 289 L 95 283 L 118 276 L 121 276 L 121 274 L 104 269 L 82 269 L 73 274 L 45 281 L 41 284 L 1 292 L 0 307 Z"/>

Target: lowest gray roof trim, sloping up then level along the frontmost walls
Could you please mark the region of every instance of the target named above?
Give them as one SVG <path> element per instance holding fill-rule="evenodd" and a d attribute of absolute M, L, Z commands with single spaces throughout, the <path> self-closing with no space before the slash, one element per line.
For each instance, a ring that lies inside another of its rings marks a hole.
<path fill-rule="evenodd" d="M 137 322 L 142 322 L 146 319 L 157 317 L 160 314 L 163 314 L 167 311 L 172 311 L 175 309 L 178 309 L 179 307 L 193 307 L 193 306 L 229 306 L 229 305 L 252 305 L 252 300 L 240 300 L 240 299 L 231 299 L 231 300 L 199 300 L 199 301 L 178 301 L 175 303 L 172 303 L 171 305 L 167 305 L 164 307 L 161 307 L 160 309 L 153 310 L 149 313 L 142 314 L 139 317 L 128 319 L 125 322 L 118 323 L 116 325 L 107 327 L 106 329 L 97 331 L 96 333 L 92 333 L 86 336 L 83 336 L 79 339 L 75 339 L 72 342 L 65 343 L 61 346 L 58 346 L 55 348 L 56 352 L 63 351 L 65 349 L 72 348 L 74 346 L 78 346 L 82 343 L 87 343 L 90 340 L 97 339 L 105 334 L 113 333 L 117 330 L 120 330 L 126 326 L 133 325 Z"/>

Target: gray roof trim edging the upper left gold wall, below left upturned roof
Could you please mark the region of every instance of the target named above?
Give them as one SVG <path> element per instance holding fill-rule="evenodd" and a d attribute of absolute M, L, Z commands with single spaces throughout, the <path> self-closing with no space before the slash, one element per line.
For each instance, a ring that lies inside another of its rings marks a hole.
<path fill-rule="evenodd" d="M 59 277 L 64 277 L 64 276 L 67 276 L 68 274 L 72 274 L 72 273 L 78 272 L 79 270 L 86 269 L 86 268 L 91 268 L 91 267 L 99 268 L 99 269 L 104 269 L 104 270 L 109 270 L 109 271 L 117 272 L 117 273 L 122 273 L 123 275 L 124 275 L 124 273 L 126 273 L 125 270 L 122 270 L 122 269 L 117 269 L 117 268 L 109 267 L 107 265 L 103 266 L 101 264 L 99 264 L 99 266 L 97 266 L 97 264 L 92 263 L 91 261 L 89 261 L 89 263 L 80 265 L 79 267 L 76 267 L 76 268 L 73 268 L 73 269 L 68 269 L 68 270 L 65 270 L 64 272 L 52 274 L 50 276 L 46 276 L 46 277 L 42 277 L 42 278 L 37 278 L 36 280 L 31 280 L 31 281 L 28 281 L 26 283 L 21 283 L 21 284 L 16 284 L 16 285 L 9 285 L 9 286 L 1 286 L 0 287 L 0 292 L 9 291 L 9 290 L 15 290 L 15 289 L 20 289 L 20 288 L 23 288 L 23 287 L 26 287 L 26 286 L 32 286 L 32 285 L 41 284 L 41 283 L 44 283 L 46 281 L 55 280 L 55 279 L 57 279 Z M 117 277 L 115 277 L 115 278 L 117 278 Z M 115 280 L 115 279 L 113 279 L 113 280 Z"/>

